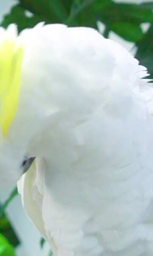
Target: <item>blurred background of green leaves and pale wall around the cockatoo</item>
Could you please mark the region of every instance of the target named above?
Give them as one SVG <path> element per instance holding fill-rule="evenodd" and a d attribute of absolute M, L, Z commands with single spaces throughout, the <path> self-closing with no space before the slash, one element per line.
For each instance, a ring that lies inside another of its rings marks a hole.
<path fill-rule="evenodd" d="M 98 29 L 136 56 L 153 78 L 153 0 L 0 0 L 0 26 L 15 23 L 20 32 L 41 21 Z M 51 255 L 17 188 L 0 190 L 0 256 Z"/>

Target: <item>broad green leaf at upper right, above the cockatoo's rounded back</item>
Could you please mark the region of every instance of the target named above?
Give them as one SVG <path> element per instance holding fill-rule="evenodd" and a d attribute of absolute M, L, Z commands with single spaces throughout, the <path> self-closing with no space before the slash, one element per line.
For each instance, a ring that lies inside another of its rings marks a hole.
<path fill-rule="evenodd" d="M 92 8 L 107 29 L 116 32 L 127 41 L 141 40 L 144 34 L 140 24 L 153 22 L 152 10 L 139 5 L 113 3 L 111 0 L 106 3 L 98 0 Z"/>

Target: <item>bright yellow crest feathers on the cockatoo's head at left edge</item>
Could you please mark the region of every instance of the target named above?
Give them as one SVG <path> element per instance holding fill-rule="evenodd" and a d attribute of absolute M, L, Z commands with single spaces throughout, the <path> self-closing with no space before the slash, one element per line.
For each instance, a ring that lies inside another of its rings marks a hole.
<path fill-rule="evenodd" d="M 20 94 L 22 47 L 7 39 L 0 44 L 0 127 L 5 136 L 17 112 Z"/>

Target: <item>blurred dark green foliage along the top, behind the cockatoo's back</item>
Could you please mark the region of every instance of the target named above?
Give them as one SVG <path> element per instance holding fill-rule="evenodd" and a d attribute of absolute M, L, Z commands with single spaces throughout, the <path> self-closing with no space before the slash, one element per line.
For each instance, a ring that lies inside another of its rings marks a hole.
<path fill-rule="evenodd" d="M 113 0 L 19 0 L 5 16 L 2 26 L 16 23 L 19 32 L 41 21 L 64 23 L 68 26 L 105 24 L 105 37 L 113 31 L 127 41 L 136 43 L 136 57 L 153 75 L 153 2 L 142 4 L 114 3 Z M 32 13 L 26 15 L 26 10 Z M 151 24 L 146 34 L 140 25 Z"/>

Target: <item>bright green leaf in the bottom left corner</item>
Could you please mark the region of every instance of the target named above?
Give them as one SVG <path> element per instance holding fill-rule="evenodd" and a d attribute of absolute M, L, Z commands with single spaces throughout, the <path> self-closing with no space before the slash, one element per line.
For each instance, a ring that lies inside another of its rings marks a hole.
<path fill-rule="evenodd" d="M 0 256 L 16 256 L 13 247 L 8 243 L 6 238 L 0 234 Z"/>

